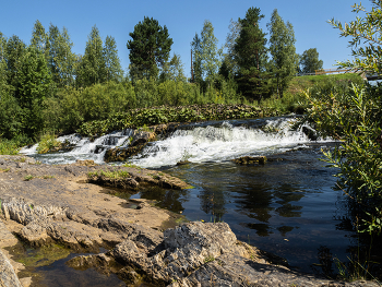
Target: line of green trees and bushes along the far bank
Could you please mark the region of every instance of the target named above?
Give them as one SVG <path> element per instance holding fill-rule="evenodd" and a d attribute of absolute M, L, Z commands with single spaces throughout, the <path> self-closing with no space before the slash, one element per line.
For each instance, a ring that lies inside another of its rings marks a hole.
<path fill-rule="evenodd" d="M 132 108 L 282 97 L 291 76 L 321 69 L 322 61 L 315 49 L 296 53 L 293 26 L 277 10 L 267 25 L 267 40 L 259 27 L 263 17 L 260 9 L 250 8 L 246 17 L 231 21 L 225 50 L 217 48 L 214 27 L 205 21 L 190 44 L 189 80 L 180 56 L 170 57 L 174 40 L 167 27 L 152 17 L 145 16 L 129 34 L 127 74 L 115 38 L 104 41 L 96 26 L 83 55 L 72 51 L 67 28 L 53 24 L 45 29 L 36 21 L 29 45 L 0 32 L 0 137 L 36 140 L 46 130 L 73 132 L 85 121 Z"/>

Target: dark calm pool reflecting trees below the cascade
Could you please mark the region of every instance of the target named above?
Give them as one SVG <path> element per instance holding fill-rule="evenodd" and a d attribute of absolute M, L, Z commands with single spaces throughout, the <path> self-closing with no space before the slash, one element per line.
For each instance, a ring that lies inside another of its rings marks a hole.
<path fill-rule="evenodd" d="M 239 240 L 313 272 L 323 251 L 346 261 L 355 241 L 354 231 L 341 227 L 346 199 L 332 189 L 336 170 L 319 160 L 321 148 L 331 145 L 310 144 L 273 155 L 274 162 L 264 166 L 224 162 L 171 167 L 164 170 L 194 189 L 147 191 L 132 198 L 157 200 L 159 206 L 190 220 L 223 220 Z"/>

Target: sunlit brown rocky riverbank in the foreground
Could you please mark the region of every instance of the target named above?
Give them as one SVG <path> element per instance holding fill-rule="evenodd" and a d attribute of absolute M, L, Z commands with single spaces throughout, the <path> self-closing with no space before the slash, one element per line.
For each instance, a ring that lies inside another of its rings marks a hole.
<path fill-rule="evenodd" d="M 68 264 L 117 274 L 128 286 L 378 286 L 294 272 L 280 258 L 238 241 L 225 223 L 176 226 L 174 214 L 145 200 L 114 196 L 103 186 L 130 192 L 189 188 L 166 174 L 129 166 L 49 166 L 0 156 L 0 286 L 33 282 L 17 278 L 22 265 L 3 250 L 17 242 L 14 235 L 31 246 L 59 242 L 96 253 Z"/>

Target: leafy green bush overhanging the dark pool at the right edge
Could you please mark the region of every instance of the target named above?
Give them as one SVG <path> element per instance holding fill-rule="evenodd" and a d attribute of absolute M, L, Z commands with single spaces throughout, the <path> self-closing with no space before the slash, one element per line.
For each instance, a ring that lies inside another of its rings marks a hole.
<path fill-rule="evenodd" d="M 353 85 L 350 89 L 306 93 L 306 120 L 323 135 L 342 140 L 325 152 L 326 162 L 339 168 L 338 188 L 362 206 L 377 211 L 382 203 L 381 86 Z"/>

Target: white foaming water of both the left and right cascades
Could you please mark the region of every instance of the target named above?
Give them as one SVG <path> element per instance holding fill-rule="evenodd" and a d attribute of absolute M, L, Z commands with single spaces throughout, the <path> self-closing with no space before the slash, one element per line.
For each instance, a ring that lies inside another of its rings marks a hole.
<path fill-rule="evenodd" d="M 141 155 L 130 163 L 145 167 L 157 168 L 176 165 L 182 160 L 191 163 L 222 162 L 246 155 L 270 155 L 303 147 L 310 140 L 302 131 L 291 131 L 294 119 L 279 118 L 266 120 L 263 129 L 234 127 L 224 122 L 217 128 L 195 128 L 178 130 L 166 140 L 157 141 L 145 147 Z M 133 130 L 116 131 L 91 142 L 87 137 L 76 134 L 58 137 L 61 142 L 75 145 L 71 152 L 36 155 L 37 145 L 23 148 L 21 153 L 35 155 L 43 163 L 71 164 L 76 159 L 93 159 L 104 164 L 107 150 L 119 146 L 127 147 Z M 320 140 L 324 141 L 324 140 Z"/>

